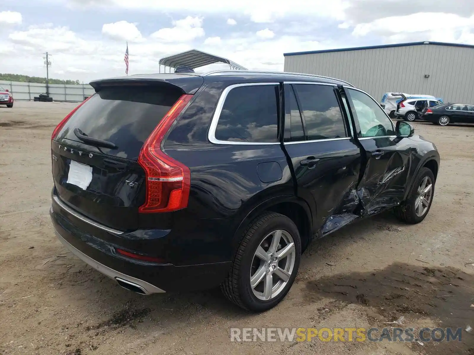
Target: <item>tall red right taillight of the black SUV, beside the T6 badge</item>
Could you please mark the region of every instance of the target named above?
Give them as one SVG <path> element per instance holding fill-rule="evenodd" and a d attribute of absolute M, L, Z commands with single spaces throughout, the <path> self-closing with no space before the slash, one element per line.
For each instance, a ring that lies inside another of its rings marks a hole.
<path fill-rule="evenodd" d="M 138 163 L 146 174 L 146 202 L 139 207 L 140 213 L 171 212 L 188 205 L 191 171 L 161 151 L 161 142 L 191 98 L 182 95 L 174 103 L 140 151 Z"/>

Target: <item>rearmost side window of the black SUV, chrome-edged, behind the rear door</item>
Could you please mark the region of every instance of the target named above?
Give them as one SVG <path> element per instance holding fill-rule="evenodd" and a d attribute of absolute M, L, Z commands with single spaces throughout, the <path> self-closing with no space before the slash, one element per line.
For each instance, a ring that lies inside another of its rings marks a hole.
<path fill-rule="evenodd" d="M 278 86 L 231 89 L 216 127 L 216 139 L 228 142 L 278 142 Z"/>

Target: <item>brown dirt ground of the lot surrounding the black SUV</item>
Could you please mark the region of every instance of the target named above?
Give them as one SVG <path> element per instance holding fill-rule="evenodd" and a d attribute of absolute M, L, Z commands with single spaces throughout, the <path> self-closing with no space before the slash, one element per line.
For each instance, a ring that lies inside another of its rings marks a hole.
<path fill-rule="evenodd" d="M 304 253 L 286 299 L 248 314 L 219 292 L 142 296 L 67 252 L 49 220 L 50 138 L 74 107 L 0 107 L 0 354 L 474 354 L 461 342 L 231 342 L 230 328 L 474 327 L 474 126 L 414 123 L 441 155 L 418 225 L 385 213 Z"/>

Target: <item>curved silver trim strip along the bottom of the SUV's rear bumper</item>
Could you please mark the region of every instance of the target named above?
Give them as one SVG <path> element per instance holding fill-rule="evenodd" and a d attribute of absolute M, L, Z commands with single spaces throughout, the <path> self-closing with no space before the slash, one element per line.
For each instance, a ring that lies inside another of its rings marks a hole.
<path fill-rule="evenodd" d="M 95 261 L 91 257 L 88 257 L 82 251 L 76 249 L 71 245 L 67 240 L 65 240 L 58 231 L 55 231 L 57 238 L 64 244 L 64 246 L 73 253 L 76 257 L 79 257 L 83 262 L 88 264 L 89 266 L 93 267 L 94 269 L 100 271 L 102 274 L 110 277 L 115 281 L 126 282 L 128 284 L 134 284 L 138 286 L 141 290 L 143 290 L 144 294 L 152 294 L 152 293 L 165 293 L 166 291 L 158 288 L 152 284 L 147 283 L 146 281 L 137 279 L 135 277 L 122 274 L 114 269 L 111 269 L 108 266 L 102 265 L 99 262 Z M 120 283 L 119 283 L 120 284 Z M 142 292 L 140 292 L 142 293 Z"/>

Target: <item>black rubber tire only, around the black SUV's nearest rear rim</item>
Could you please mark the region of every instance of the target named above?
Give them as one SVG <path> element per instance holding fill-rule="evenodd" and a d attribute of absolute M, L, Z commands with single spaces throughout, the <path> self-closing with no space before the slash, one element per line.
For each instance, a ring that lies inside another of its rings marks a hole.
<path fill-rule="evenodd" d="M 295 246 L 295 262 L 288 283 L 283 290 L 273 299 L 259 300 L 255 297 L 250 286 L 250 272 L 255 251 L 265 237 L 276 230 L 287 231 L 293 239 Z M 242 235 L 232 267 L 228 276 L 221 284 L 224 295 L 237 306 L 253 312 L 267 311 L 283 300 L 290 290 L 301 259 L 301 238 L 294 222 L 280 213 L 268 212 L 255 218 Z"/>

